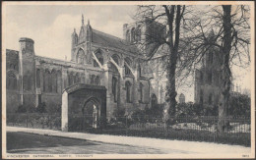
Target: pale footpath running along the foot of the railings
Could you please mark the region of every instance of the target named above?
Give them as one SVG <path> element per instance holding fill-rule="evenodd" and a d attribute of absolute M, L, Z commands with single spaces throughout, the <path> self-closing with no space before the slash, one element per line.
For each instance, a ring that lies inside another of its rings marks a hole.
<path fill-rule="evenodd" d="M 36 133 L 67 138 L 85 139 L 104 143 L 147 146 L 170 150 L 184 150 L 196 154 L 250 154 L 251 148 L 240 145 L 219 144 L 213 142 L 198 142 L 185 140 L 170 140 L 150 137 L 121 136 L 94 133 L 67 133 L 61 131 L 6 127 L 7 132 Z"/>

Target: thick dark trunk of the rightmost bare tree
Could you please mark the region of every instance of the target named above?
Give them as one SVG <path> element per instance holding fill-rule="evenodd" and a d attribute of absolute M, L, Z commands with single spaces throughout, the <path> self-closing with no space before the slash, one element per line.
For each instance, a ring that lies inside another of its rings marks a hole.
<path fill-rule="evenodd" d="M 231 50 L 231 6 L 223 6 L 224 17 L 223 17 L 223 27 L 224 27 L 224 45 L 223 45 L 223 63 L 222 63 L 222 85 L 221 85 L 221 97 L 219 102 L 219 122 L 218 129 L 220 133 L 223 133 L 228 125 L 227 109 L 228 109 L 228 99 L 229 90 L 231 83 L 231 72 L 229 68 L 229 53 Z"/>

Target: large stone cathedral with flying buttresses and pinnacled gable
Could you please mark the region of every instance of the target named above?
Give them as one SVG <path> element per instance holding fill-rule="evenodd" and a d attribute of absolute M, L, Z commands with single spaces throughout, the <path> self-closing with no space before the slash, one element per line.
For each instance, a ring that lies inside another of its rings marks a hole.
<path fill-rule="evenodd" d="M 85 24 L 82 16 L 79 32 L 74 29 L 71 34 L 71 61 L 37 56 L 34 41 L 20 38 L 19 51 L 6 49 L 7 112 L 16 112 L 20 105 L 36 108 L 41 103 L 46 105 L 48 113 L 57 112 L 63 105 L 64 90 L 80 86 L 77 84 L 105 88 L 102 98 L 106 99 L 107 118 L 120 108 L 129 114 L 163 103 L 166 80 L 161 79 L 162 70 L 156 64 L 160 64 L 164 55 L 159 52 L 147 61 L 145 55 L 151 46 L 141 43 L 147 33 L 159 30 L 160 24 L 153 26 L 125 24 L 123 38 L 118 38 L 96 30 L 90 21 Z M 93 96 L 93 92 L 88 92 L 88 96 Z"/>

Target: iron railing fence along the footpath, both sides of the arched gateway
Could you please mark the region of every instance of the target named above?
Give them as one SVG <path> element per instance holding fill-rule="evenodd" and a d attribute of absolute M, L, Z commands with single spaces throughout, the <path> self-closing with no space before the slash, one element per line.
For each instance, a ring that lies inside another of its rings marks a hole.
<path fill-rule="evenodd" d="M 218 117 L 171 117 L 166 123 L 162 118 L 148 116 L 116 117 L 98 128 L 101 121 L 88 115 L 70 115 L 69 131 L 106 133 L 212 141 L 250 146 L 251 121 L 249 117 L 227 117 L 224 132 L 218 130 Z M 7 115 L 8 126 L 60 130 L 61 117 L 53 114 Z"/>

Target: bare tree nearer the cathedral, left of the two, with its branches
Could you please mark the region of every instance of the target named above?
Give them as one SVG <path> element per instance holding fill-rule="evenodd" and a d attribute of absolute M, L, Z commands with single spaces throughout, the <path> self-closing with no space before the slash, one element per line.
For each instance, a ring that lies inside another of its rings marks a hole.
<path fill-rule="evenodd" d="M 147 57 L 151 59 L 157 51 L 165 54 L 166 69 L 166 92 L 165 109 L 170 115 L 175 114 L 176 105 L 176 66 L 179 54 L 179 40 L 181 20 L 185 13 L 185 6 L 162 5 L 162 6 L 139 6 L 135 19 L 136 22 L 144 24 L 146 22 L 146 36 L 142 40 L 141 46 L 146 48 Z M 166 28 L 167 27 L 167 28 Z M 161 46 L 164 49 L 161 49 Z M 144 48 L 145 49 L 145 48 Z"/>

